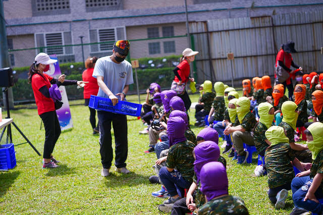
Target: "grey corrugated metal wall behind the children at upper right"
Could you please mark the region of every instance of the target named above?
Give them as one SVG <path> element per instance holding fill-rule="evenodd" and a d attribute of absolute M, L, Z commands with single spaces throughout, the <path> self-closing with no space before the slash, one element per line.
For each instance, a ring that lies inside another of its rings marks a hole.
<path fill-rule="evenodd" d="M 200 52 L 196 56 L 199 83 L 204 80 L 231 83 L 232 70 L 239 87 L 245 78 L 274 76 L 276 55 L 281 44 L 288 40 L 295 42 L 298 53 L 292 56 L 305 73 L 323 71 L 321 11 L 208 20 L 191 23 L 190 31 L 194 48 Z M 209 32 L 208 37 L 206 32 Z M 227 60 L 228 52 L 233 52 L 235 56 L 232 65 Z"/>

